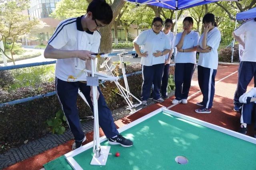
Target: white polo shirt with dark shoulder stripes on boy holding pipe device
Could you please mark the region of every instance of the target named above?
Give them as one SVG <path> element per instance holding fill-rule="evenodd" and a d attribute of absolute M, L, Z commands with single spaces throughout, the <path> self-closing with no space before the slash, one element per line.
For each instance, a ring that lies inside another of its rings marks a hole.
<path fill-rule="evenodd" d="M 61 50 L 87 50 L 94 53 L 99 52 L 101 35 L 99 31 L 84 31 L 81 17 L 69 18 L 61 21 L 48 44 L 55 49 Z M 85 68 L 86 61 L 79 58 L 57 59 L 55 76 L 60 80 L 67 81 L 68 76 L 78 76 L 74 81 L 85 80 L 87 74 L 81 74 L 75 68 Z"/>

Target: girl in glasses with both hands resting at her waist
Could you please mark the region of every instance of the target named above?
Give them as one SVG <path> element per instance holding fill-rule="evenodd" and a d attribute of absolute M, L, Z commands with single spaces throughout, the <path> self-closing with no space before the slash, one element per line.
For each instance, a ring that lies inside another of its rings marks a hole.
<path fill-rule="evenodd" d="M 134 49 L 141 57 L 142 64 L 142 104 L 147 105 L 152 84 L 153 98 L 156 102 L 163 102 L 160 96 L 161 80 L 164 72 L 164 55 L 170 52 L 170 42 L 166 35 L 162 33 L 163 21 L 160 17 L 152 21 L 152 29 L 143 31 L 134 39 Z M 142 45 L 144 53 L 140 52 L 139 45 Z"/>

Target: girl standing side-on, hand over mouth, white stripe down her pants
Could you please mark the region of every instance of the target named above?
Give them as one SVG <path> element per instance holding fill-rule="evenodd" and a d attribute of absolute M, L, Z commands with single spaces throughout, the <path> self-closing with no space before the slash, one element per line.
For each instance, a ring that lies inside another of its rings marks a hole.
<path fill-rule="evenodd" d="M 208 13 L 203 17 L 204 33 L 202 33 L 197 51 L 198 59 L 198 84 L 203 94 L 203 101 L 196 103 L 202 106 L 196 113 L 211 113 L 215 93 L 215 76 L 218 67 L 218 47 L 221 34 L 217 29 L 214 14 Z"/>

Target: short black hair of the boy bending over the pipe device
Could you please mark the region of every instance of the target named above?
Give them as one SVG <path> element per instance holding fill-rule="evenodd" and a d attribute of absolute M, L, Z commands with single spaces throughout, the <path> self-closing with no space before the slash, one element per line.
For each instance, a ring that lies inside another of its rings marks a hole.
<path fill-rule="evenodd" d="M 86 12 L 92 12 L 92 19 L 97 19 L 104 24 L 109 24 L 113 19 L 113 11 L 106 0 L 93 0 Z"/>

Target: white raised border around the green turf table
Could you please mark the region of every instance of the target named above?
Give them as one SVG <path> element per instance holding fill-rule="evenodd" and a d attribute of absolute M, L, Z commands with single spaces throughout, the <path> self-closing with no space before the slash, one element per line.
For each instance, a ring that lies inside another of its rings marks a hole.
<path fill-rule="evenodd" d="M 256 139 L 253 138 L 253 137 L 250 137 L 250 136 L 247 136 L 247 135 L 243 135 L 241 133 L 238 133 L 238 132 L 235 132 L 235 131 L 231 131 L 229 129 L 226 129 L 226 128 L 223 128 L 223 127 L 220 127 L 220 126 L 217 126 L 217 125 L 214 125 L 212 123 L 208 123 L 208 122 L 205 122 L 205 121 L 202 121 L 202 120 L 199 120 L 199 119 L 196 119 L 194 117 L 190 117 L 190 116 L 186 116 L 186 115 L 183 115 L 181 113 L 178 113 L 178 112 L 175 112 L 175 111 L 171 111 L 171 110 L 168 110 L 166 109 L 166 107 L 161 107 L 135 121 L 132 121 L 131 123 L 129 123 L 128 125 L 125 125 L 124 127 L 121 127 L 118 129 L 119 133 L 122 133 L 123 131 L 137 125 L 138 123 L 141 123 L 142 121 L 160 113 L 160 112 L 164 112 L 164 113 L 167 113 L 167 114 L 170 114 L 170 115 L 174 115 L 176 117 L 179 117 L 179 118 L 182 118 L 184 120 L 187 120 L 187 121 L 191 121 L 193 123 L 197 123 L 198 125 L 202 125 L 204 127 L 208 127 L 210 129 L 214 129 L 216 131 L 220 131 L 222 133 L 225 133 L 227 135 L 231 135 L 233 137 L 236 137 L 236 138 L 239 138 L 239 139 L 242 139 L 244 141 L 248 141 L 250 143 L 254 143 L 256 144 Z M 106 136 L 102 136 L 100 137 L 100 143 L 102 143 L 103 141 L 106 141 L 107 138 Z M 81 166 L 76 162 L 76 160 L 74 160 L 73 156 L 76 156 L 78 154 L 80 154 L 81 152 L 84 152 L 85 150 L 88 150 L 88 149 L 92 149 L 93 147 L 93 141 L 90 142 L 90 143 L 87 143 L 86 145 L 78 148 L 78 149 L 75 149 L 71 152 L 68 152 L 67 154 L 65 154 L 65 158 L 66 160 L 68 161 L 68 163 L 70 164 L 70 166 L 74 169 L 74 170 L 83 170 L 81 168 Z"/>

